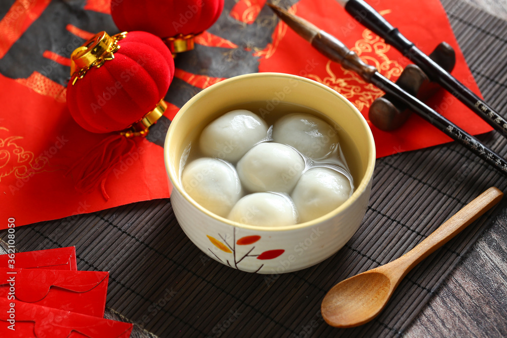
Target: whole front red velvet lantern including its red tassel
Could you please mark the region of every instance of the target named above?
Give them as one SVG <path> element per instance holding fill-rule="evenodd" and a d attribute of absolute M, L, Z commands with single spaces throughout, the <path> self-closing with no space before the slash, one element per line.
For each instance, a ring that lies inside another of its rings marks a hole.
<path fill-rule="evenodd" d="M 87 192 L 105 180 L 131 152 L 131 136 L 145 136 L 162 117 L 163 98 L 174 75 L 174 60 L 160 37 L 131 31 L 96 34 L 71 55 L 67 106 L 74 120 L 93 133 L 116 132 L 92 146 L 69 168 L 76 189 Z"/>

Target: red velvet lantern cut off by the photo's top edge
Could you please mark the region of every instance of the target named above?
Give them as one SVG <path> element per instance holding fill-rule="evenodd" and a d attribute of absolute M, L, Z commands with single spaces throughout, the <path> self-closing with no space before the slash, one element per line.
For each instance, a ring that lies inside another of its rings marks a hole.
<path fill-rule="evenodd" d="M 143 30 L 160 36 L 172 53 L 194 48 L 194 36 L 219 18 L 224 0 L 113 1 L 111 15 L 121 30 Z"/>

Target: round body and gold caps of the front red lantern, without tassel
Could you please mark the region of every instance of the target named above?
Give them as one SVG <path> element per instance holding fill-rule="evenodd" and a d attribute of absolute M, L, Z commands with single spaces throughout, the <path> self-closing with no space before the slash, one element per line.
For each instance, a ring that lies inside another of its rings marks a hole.
<path fill-rule="evenodd" d="M 67 105 L 84 129 L 146 133 L 162 116 L 174 61 L 159 37 L 141 31 L 114 36 L 100 32 L 76 49 L 71 60 Z"/>

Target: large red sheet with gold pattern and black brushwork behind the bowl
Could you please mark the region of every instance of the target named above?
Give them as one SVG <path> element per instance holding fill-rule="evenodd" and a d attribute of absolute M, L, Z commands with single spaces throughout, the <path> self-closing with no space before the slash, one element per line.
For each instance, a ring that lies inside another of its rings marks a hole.
<path fill-rule="evenodd" d="M 371 4 L 426 53 L 430 53 L 441 41 L 448 42 L 456 50 L 453 75 L 479 93 L 438 0 L 382 0 Z M 47 22 L 59 20 L 58 25 L 51 27 L 60 29 L 56 33 L 67 39 L 63 40 L 65 44 L 70 42 L 63 47 L 77 48 L 98 31 L 118 32 L 113 31 L 116 27 L 109 16 L 110 5 L 107 0 L 71 3 L 15 0 L 10 4 L 0 4 L 2 13 L 7 13 L 0 20 L 0 186 L 3 193 L 0 194 L 3 198 L 0 217 L 4 220 L 14 217 L 16 226 L 169 197 L 163 148 L 161 144 L 147 139 L 137 140 L 135 151 L 109 176 L 106 189 L 111 199 L 107 202 L 99 189 L 89 194 L 78 193 L 74 189 L 73 177 L 65 176 L 68 167 L 100 142 L 104 135 L 87 132 L 70 117 L 65 102 L 65 85 L 71 50 L 62 50 L 54 43 L 60 40 L 49 39 L 50 34 L 44 29 L 47 29 Z M 188 100 L 199 90 L 238 74 L 238 65 L 244 66 L 241 68 L 243 73 L 257 70 L 288 72 L 320 81 L 340 91 L 368 117 L 369 105 L 382 92 L 367 86 L 340 65 L 329 62 L 284 24 L 276 26 L 272 42 L 267 46 L 267 41 L 258 34 L 242 35 L 241 30 L 247 34 L 249 27 L 272 29 L 264 24 L 275 22 L 274 14 L 261 5 L 264 5 L 263 0 L 227 2 L 227 8 L 218 21 L 221 29 L 196 37 L 198 47 L 185 56 L 190 59 L 195 57 L 192 59 L 194 66 L 176 63 L 173 84 L 177 83 L 176 86 L 171 85 L 166 96 L 169 99 L 165 113 L 167 119 L 159 121 L 159 124 L 170 123 L 178 107 L 184 103 L 178 99 L 183 94 Z M 335 0 L 302 0 L 291 10 L 338 37 L 392 80 L 409 62 L 357 23 Z M 70 20 L 73 15 L 76 17 Z M 93 20 L 80 21 L 77 17 L 92 17 Z M 40 22 L 40 18 L 44 20 Z M 66 34 L 71 34 L 71 37 Z M 28 45 L 30 40 L 26 41 L 26 35 L 30 35 L 35 47 Z M 252 40 L 245 44 L 245 36 Z M 16 50 L 14 55 L 19 59 L 12 59 L 13 50 Z M 215 56 L 213 62 L 222 63 L 220 67 L 207 70 L 212 55 Z M 247 64 L 243 62 L 243 57 L 257 59 Z M 31 66 L 27 64 L 30 62 Z M 177 104 L 170 103 L 171 99 Z M 470 133 L 491 130 L 448 93 L 438 93 L 428 104 Z M 373 126 L 372 130 L 378 157 L 450 140 L 417 116 L 411 117 L 396 132 L 382 132 Z M 7 222 L 0 223 L 0 229 L 6 226 Z"/>

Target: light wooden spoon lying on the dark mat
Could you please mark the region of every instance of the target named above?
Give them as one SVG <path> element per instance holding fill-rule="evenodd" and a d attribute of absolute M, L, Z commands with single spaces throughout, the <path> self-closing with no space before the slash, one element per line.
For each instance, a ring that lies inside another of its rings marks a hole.
<path fill-rule="evenodd" d="M 501 191 L 490 187 L 402 257 L 336 284 L 322 301 L 324 320 L 335 327 L 353 327 L 375 318 L 413 267 L 498 203 L 502 196 Z"/>

